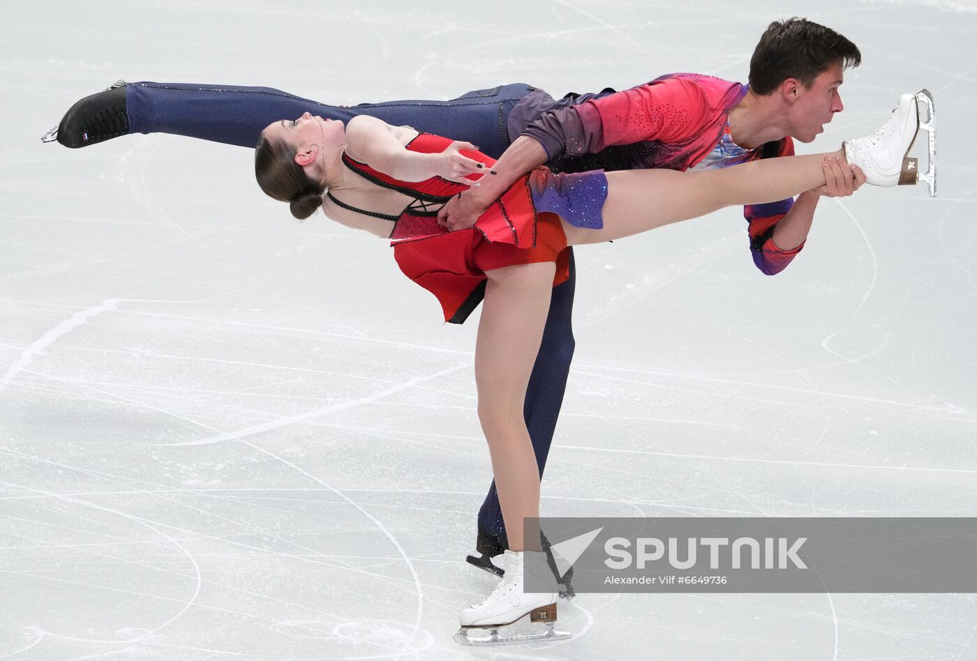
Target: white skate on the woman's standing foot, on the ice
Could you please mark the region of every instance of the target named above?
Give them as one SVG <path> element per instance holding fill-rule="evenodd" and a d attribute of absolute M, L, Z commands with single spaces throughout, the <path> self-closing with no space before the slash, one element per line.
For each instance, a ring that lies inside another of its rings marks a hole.
<path fill-rule="evenodd" d="M 556 621 L 556 593 L 526 593 L 524 585 L 524 559 L 531 554 L 543 556 L 541 551 L 506 551 L 493 559 L 505 571 L 502 581 L 492 591 L 488 599 L 466 608 L 458 615 L 461 629 L 454 640 L 466 645 L 490 645 L 505 642 L 527 642 L 531 640 L 559 640 L 570 638 L 570 634 L 553 628 Z M 532 563 L 537 566 L 536 562 Z M 543 566 L 544 563 L 538 563 Z M 535 569 L 530 569 L 533 571 Z M 545 622 L 545 631 L 523 636 L 500 636 L 498 630 L 517 620 L 530 616 L 531 622 Z M 472 636 L 473 632 L 487 630 L 488 636 Z"/>

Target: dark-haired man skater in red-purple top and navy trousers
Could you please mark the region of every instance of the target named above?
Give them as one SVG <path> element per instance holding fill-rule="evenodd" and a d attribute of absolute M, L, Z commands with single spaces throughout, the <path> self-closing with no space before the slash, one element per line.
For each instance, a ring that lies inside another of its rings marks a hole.
<path fill-rule="evenodd" d="M 390 124 L 480 145 L 501 156 L 498 175 L 440 212 L 452 228 L 470 227 L 495 196 L 535 165 L 562 172 L 596 168 L 724 167 L 793 153 L 792 139 L 811 142 L 843 108 L 843 71 L 861 54 L 851 41 L 812 21 L 772 22 L 750 61 L 749 85 L 695 74 L 671 74 L 631 90 L 567 95 L 555 101 L 528 85 L 477 90 L 448 102 L 401 101 L 336 106 L 260 87 L 119 83 L 75 103 L 45 137 L 93 145 L 128 133 L 171 133 L 253 147 L 261 130 L 303 112 L 349 120 L 369 114 Z M 504 153 L 503 153 L 504 152 Z M 863 173 L 807 191 L 796 200 L 744 209 L 753 261 L 781 272 L 804 246 L 822 195 L 849 195 Z M 473 192 L 476 191 L 476 192 Z M 649 203 L 654 203 L 650 201 Z M 542 475 L 573 357 L 571 311 L 575 270 L 553 290 L 542 345 L 526 395 L 525 415 Z M 507 548 L 494 483 L 479 512 L 477 549 L 468 561 L 501 574 L 489 558 Z"/>

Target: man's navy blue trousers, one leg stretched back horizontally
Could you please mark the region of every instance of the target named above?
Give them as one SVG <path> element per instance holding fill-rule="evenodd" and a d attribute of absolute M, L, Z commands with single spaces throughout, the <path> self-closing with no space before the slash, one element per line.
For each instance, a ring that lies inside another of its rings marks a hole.
<path fill-rule="evenodd" d="M 354 106 L 325 105 L 268 87 L 130 83 L 126 109 L 131 133 L 170 133 L 228 145 L 253 147 L 262 129 L 278 119 L 309 111 L 330 119 L 349 120 L 359 114 L 395 126 L 479 145 L 498 157 L 509 145 L 506 120 L 512 107 L 533 88 L 524 84 L 477 90 L 446 102 L 395 101 Z M 524 414 L 540 477 L 546 466 L 557 417 L 563 403 L 573 359 L 573 253 L 570 279 L 553 289 L 542 345 L 532 367 Z M 479 511 L 479 550 L 497 553 L 508 548 L 505 523 L 493 481 Z"/>

